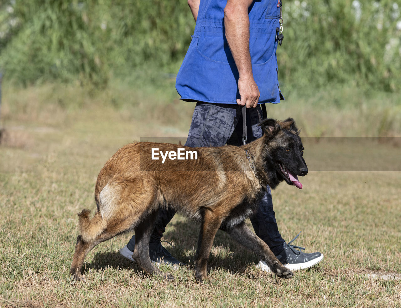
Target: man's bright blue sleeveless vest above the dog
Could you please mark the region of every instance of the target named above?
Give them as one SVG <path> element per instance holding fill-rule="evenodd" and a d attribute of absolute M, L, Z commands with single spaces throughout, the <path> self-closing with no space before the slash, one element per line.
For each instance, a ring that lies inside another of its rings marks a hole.
<path fill-rule="evenodd" d="M 249 51 L 259 103 L 279 103 L 276 28 L 278 0 L 255 0 L 249 7 Z M 201 0 L 192 41 L 176 79 L 184 101 L 237 104 L 238 70 L 224 34 L 227 0 Z"/>

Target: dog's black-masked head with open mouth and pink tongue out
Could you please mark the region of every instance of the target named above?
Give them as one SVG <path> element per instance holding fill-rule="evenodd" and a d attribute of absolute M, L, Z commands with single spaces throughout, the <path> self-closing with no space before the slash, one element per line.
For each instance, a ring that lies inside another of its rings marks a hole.
<path fill-rule="evenodd" d="M 270 187 L 274 189 L 281 181 L 286 181 L 289 185 L 302 189 L 298 175 L 306 175 L 308 167 L 302 157 L 304 147 L 294 119 L 266 119 L 259 125 L 264 132 L 265 146 L 262 155 Z"/>

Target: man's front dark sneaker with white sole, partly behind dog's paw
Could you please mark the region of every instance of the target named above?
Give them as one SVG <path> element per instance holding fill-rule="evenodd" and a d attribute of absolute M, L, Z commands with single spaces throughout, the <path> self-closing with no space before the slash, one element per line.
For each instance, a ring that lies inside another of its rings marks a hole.
<path fill-rule="evenodd" d="M 305 248 L 295 245 L 290 245 L 294 242 L 301 232 L 292 239 L 288 244 L 284 243 L 284 249 L 278 255 L 276 255 L 277 259 L 289 270 L 297 271 L 303 270 L 305 268 L 310 268 L 318 264 L 323 260 L 324 256 L 320 252 L 314 252 L 312 254 L 306 254 L 301 252 L 301 250 L 305 250 Z M 259 264 L 256 266 L 265 272 L 271 272 L 269 266 L 262 260 L 259 261 Z"/>

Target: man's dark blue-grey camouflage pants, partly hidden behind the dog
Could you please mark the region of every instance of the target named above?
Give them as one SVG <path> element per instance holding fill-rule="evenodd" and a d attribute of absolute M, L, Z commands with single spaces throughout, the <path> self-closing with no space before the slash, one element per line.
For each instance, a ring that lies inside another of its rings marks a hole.
<path fill-rule="evenodd" d="M 257 108 L 261 113 L 259 105 Z M 262 130 L 260 126 L 257 126 L 259 118 L 256 108 L 247 109 L 247 111 L 247 141 L 251 142 L 262 136 Z M 241 106 L 199 102 L 195 106 L 185 145 L 188 147 L 242 145 L 242 122 Z M 151 242 L 160 241 L 167 223 L 174 214 L 175 212 L 172 210 L 160 211 L 158 222 L 150 239 Z M 259 209 L 251 217 L 251 223 L 256 235 L 266 242 L 274 254 L 279 254 L 283 250 L 284 240 L 277 228 L 269 187 L 259 202 Z M 130 241 L 127 245 L 131 251 L 134 250 L 133 243 L 134 241 Z"/>

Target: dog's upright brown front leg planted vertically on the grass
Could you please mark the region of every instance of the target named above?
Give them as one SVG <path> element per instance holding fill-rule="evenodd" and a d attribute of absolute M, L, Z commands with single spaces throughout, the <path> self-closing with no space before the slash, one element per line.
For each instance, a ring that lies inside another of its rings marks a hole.
<path fill-rule="evenodd" d="M 195 278 L 198 282 L 203 282 L 207 277 L 207 261 L 209 260 L 216 232 L 221 225 L 221 219 L 210 209 L 205 208 L 201 215 L 202 225 L 195 257 Z"/>

